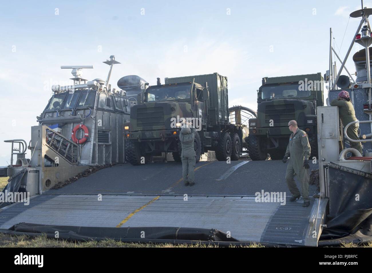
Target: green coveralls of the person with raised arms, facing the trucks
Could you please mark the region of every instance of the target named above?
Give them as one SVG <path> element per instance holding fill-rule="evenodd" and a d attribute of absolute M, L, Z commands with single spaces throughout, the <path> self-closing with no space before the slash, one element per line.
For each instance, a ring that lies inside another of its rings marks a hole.
<path fill-rule="evenodd" d="M 181 160 L 182 160 L 182 177 L 183 182 L 194 183 L 194 168 L 196 162 L 196 153 L 194 150 L 194 138 L 196 129 L 190 128 L 190 134 L 180 133 L 180 141 L 182 144 Z M 188 177 L 187 177 L 188 175 Z"/>

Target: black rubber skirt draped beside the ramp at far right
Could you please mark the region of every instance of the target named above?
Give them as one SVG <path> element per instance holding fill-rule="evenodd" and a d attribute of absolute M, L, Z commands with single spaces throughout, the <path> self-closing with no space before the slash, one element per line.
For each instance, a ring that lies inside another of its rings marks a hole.
<path fill-rule="evenodd" d="M 358 170 L 341 170 L 340 165 L 334 163 L 327 168 L 329 220 L 321 240 L 345 237 L 358 231 L 363 223 L 372 223 L 372 179 Z"/>

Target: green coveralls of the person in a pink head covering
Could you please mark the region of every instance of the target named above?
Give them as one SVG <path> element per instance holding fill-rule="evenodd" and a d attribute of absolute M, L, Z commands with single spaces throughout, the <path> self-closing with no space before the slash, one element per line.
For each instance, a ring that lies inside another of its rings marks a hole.
<path fill-rule="evenodd" d="M 339 107 L 339 115 L 340 115 L 343 126 L 346 126 L 350 122 L 357 120 L 355 117 L 355 110 L 354 110 L 354 107 L 351 101 L 337 100 L 337 98 L 335 98 L 331 102 L 331 106 Z M 347 133 L 347 136 L 350 137 L 350 139 L 359 140 L 358 127 L 359 127 L 359 124 L 353 124 L 353 125 L 350 125 L 349 128 L 347 128 L 346 133 Z M 352 141 L 349 141 L 349 142 L 352 148 L 357 149 L 360 152 L 360 154 L 363 153 L 362 143 L 352 142 Z"/>

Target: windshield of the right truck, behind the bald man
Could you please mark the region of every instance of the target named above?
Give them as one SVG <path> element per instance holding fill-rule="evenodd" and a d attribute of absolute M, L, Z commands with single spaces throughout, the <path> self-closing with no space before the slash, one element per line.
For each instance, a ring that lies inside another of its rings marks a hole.
<path fill-rule="evenodd" d="M 265 86 L 262 87 L 261 91 L 263 100 L 278 98 L 306 98 L 310 97 L 311 95 L 311 90 L 309 90 L 308 88 L 300 88 L 300 85 L 297 83 L 288 85 Z"/>

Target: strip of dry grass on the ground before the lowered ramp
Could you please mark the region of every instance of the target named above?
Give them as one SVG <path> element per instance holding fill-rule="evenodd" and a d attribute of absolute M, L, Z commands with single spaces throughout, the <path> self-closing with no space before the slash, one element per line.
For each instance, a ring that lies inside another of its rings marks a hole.
<path fill-rule="evenodd" d="M 87 242 L 68 242 L 64 240 L 49 239 L 47 235 L 43 234 L 41 236 L 30 238 L 26 235 L 8 235 L 0 233 L 0 247 L 218 247 L 209 246 L 206 244 L 198 243 L 195 246 L 187 244 L 140 244 L 140 243 L 123 243 L 116 242 L 114 240 L 106 241 L 87 241 Z M 230 246 L 230 247 L 240 247 L 240 246 Z M 264 247 L 260 244 L 253 243 L 246 247 Z"/>

